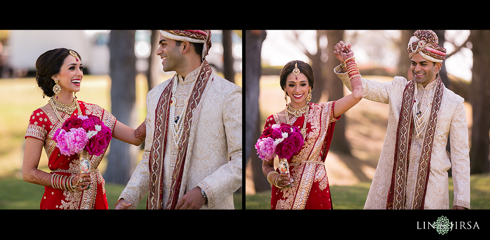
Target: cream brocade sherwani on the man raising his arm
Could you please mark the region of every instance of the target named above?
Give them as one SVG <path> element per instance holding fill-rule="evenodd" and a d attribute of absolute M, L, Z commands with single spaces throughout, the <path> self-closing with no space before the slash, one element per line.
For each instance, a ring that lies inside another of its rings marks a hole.
<path fill-rule="evenodd" d="M 346 73 L 339 73 L 340 70 L 340 66 L 334 69 L 345 86 L 351 90 L 348 76 Z M 421 84 L 417 84 L 418 94 L 416 97 L 420 102 L 420 107 L 417 110 L 424 112 L 429 102 L 432 102 L 435 83 L 436 81 L 433 81 L 425 88 Z M 362 84 L 364 98 L 389 105 L 388 128 L 386 130 L 385 141 L 364 206 L 364 209 L 386 209 L 388 190 L 393 171 L 393 154 L 395 151 L 398 119 L 402 105 L 403 91 L 408 81 L 403 77 L 394 77 L 391 82 L 379 83 L 363 78 Z M 468 127 L 463 103 L 464 99 L 462 97 L 444 87 L 431 153 L 430 174 L 424 209 L 449 208 L 447 171 L 450 168 L 452 168 L 454 185 L 453 205 L 463 206 L 468 209 L 470 207 Z M 412 137 L 405 190 L 407 196 L 405 209 L 413 208 L 415 179 L 417 179 L 417 166 L 423 147 L 424 134 L 425 131 L 422 131 L 420 137 L 417 138 L 416 133 Z M 451 143 L 451 154 L 446 151 L 448 136 Z"/>

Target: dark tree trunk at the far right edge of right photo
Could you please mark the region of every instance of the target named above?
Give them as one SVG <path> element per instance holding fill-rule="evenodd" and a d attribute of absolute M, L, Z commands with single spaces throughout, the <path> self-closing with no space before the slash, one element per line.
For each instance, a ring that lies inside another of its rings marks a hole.
<path fill-rule="evenodd" d="M 490 172 L 490 31 L 471 30 L 470 42 L 473 51 L 473 78 L 471 80 L 471 105 L 473 107 L 473 127 L 471 131 L 471 174 Z"/>

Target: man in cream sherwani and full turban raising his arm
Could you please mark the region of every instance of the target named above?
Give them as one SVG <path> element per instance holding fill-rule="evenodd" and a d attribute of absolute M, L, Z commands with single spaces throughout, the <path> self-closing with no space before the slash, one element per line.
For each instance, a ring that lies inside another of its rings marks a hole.
<path fill-rule="evenodd" d="M 470 208 L 468 127 L 464 99 L 439 76 L 446 49 L 436 33 L 417 30 L 408 44 L 414 79 L 378 83 L 362 79 L 364 98 L 389 105 L 388 128 L 364 209 Z M 340 42 L 338 50 L 348 47 Z M 337 49 L 336 48 L 336 49 Z M 350 89 L 342 66 L 337 75 Z M 446 151 L 447 139 L 451 153 Z"/>

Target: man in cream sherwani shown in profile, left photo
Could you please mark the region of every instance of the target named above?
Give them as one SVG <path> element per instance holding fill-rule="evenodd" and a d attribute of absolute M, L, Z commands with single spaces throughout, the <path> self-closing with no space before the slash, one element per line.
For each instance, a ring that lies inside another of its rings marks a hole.
<path fill-rule="evenodd" d="M 164 71 L 147 94 L 145 153 L 116 209 L 233 209 L 242 186 L 242 88 L 205 60 L 210 30 L 160 30 Z"/>

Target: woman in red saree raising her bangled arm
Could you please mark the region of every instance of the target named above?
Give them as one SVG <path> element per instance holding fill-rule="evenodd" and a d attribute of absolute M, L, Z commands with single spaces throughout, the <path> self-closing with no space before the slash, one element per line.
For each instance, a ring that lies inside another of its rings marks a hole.
<path fill-rule="evenodd" d="M 304 145 L 287 159 L 289 175 L 274 169 L 274 159 L 263 161 L 262 171 L 272 184 L 271 209 L 333 209 L 325 158 L 335 122 L 363 97 L 359 70 L 354 59 L 350 58 L 352 50 L 340 44 L 336 50 L 338 59 L 347 59 L 343 62 L 343 70 L 349 71 L 352 86 L 355 86 L 351 94 L 337 101 L 310 103 L 314 78 L 307 63 L 292 61 L 281 70 L 280 85 L 285 91 L 286 102 L 287 96 L 291 102 L 286 109 L 266 119 L 264 130 L 274 124 L 293 125 L 302 130 Z"/>

